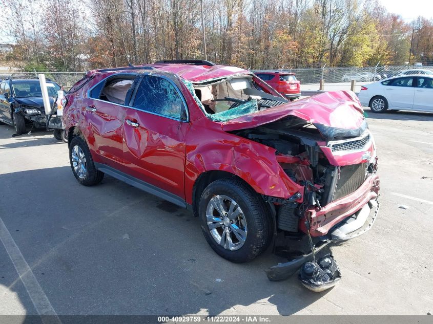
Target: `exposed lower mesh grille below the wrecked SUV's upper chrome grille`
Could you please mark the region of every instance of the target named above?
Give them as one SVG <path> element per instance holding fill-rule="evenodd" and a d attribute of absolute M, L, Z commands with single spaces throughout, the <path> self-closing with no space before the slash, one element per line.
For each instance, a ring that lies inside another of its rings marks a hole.
<path fill-rule="evenodd" d="M 350 195 L 358 189 L 365 181 L 366 171 L 367 163 L 342 166 L 333 200 Z"/>

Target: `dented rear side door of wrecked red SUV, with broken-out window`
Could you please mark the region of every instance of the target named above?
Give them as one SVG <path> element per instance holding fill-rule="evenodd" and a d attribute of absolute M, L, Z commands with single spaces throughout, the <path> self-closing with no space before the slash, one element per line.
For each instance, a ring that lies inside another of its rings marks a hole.
<path fill-rule="evenodd" d="M 87 98 L 83 99 L 83 114 L 90 131 L 89 148 L 96 154 L 97 162 L 121 171 L 125 171 L 128 164 L 123 159 L 123 123 L 129 89 L 117 85 L 129 80 L 131 88 L 135 78 L 135 74 L 109 76 L 92 87 Z M 123 99 L 120 98 L 122 96 Z"/>

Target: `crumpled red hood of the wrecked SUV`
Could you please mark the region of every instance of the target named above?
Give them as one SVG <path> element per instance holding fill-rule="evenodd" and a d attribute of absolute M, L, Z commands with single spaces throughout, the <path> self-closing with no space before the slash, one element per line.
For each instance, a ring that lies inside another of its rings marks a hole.
<path fill-rule="evenodd" d="M 286 117 L 313 124 L 327 139 L 358 136 L 365 131 L 363 109 L 352 91 L 329 91 L 221 123 L 223 131 L 254 128 Z"/>

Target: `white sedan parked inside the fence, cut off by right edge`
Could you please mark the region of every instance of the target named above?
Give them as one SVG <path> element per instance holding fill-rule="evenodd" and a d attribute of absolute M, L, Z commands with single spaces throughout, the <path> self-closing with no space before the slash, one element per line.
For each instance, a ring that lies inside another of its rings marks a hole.
<path fill-rule="evenodd" d="M 433 112 L 433 75 L 395 76 L 365 84 L 358 98 L 374 113 L 388 109 Z"/>

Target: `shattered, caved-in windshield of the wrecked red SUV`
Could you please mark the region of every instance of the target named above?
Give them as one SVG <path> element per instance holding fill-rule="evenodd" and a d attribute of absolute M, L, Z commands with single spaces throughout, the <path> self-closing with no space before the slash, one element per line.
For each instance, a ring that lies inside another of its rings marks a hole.
<path fill-rule="evenodd" d="M 205 115 L 217 122 L 252 114 L 287 102 L 283 98 L 263 92 L 250 75 L 199 84 L 187 80 L 183 82 Z"/>

